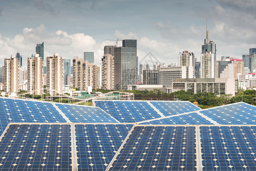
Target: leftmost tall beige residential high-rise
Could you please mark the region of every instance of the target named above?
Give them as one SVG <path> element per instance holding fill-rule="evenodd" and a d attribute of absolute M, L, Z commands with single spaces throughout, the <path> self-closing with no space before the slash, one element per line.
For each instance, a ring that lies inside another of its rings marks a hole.
<path fill-rule="evenodd" d="M 17 58 L 5 58 L 5 92 L 19 91 L 19 61 Z"/>

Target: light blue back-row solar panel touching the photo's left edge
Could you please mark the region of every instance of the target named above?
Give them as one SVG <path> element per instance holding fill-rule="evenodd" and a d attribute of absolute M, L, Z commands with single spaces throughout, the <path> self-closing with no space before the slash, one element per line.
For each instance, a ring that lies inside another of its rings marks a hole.
<path fill-rule="evenodd" d="M 66 123 L 51 103 L 0 98 L 0 134 L 8 123 Z"/>

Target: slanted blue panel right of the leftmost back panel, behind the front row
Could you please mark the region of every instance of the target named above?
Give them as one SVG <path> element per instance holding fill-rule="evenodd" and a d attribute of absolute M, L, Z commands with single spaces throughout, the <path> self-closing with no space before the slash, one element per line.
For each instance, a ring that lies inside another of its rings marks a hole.
<path fill-rule="evenodd" d="M 72 123 L 118 123 L 108 113 L 97 107 L 58 103 L 56 106 Z"/>

